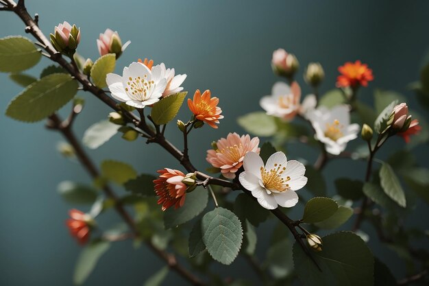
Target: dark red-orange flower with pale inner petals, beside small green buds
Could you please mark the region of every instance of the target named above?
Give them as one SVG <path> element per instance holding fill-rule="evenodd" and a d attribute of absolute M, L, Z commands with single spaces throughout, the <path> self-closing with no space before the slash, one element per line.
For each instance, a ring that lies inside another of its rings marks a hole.
<path fill-rule="evenodd" d="M 182 182 L 185 175 L 178 170 L 164 168 L 158 170 L 160 176 L 154 180 L 155 192 L 160 198 L 158 204 L 162 204 L 162 211 L 170 206 L 179 208 L 185 202 L 187 186 Z"/>

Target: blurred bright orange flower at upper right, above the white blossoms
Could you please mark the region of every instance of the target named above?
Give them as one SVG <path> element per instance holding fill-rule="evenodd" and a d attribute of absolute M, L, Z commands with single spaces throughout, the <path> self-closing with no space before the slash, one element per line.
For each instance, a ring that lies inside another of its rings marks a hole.
<path fill-rule="evenodd" d="M 337 87 L 357 87 L 367 86 L 368 82 L 374 79 L 372 69 L 367 64 L 362 64 L 360 60 L 356 62 L 346 62 L 338 68 L 341 75 L 336 78 Z"/>

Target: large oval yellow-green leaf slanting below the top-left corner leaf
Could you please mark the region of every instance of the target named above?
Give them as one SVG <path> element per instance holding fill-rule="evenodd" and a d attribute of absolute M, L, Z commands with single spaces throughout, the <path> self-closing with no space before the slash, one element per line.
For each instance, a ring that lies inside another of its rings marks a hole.
<path fill-rule="evenodd" d="M 48 75 L 12 99 L 6 115 L 25 122 L 45 119 L 75 96 L 77 86 L 77 82 L 65 73 Z"/>

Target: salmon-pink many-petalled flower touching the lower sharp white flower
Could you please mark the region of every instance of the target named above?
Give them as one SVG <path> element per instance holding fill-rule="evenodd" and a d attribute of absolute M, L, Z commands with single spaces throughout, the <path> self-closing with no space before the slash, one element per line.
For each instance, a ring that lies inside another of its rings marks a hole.
<path fill-rule="evenodd" d="M 220 168 L 225 178 L 235 178 L 235 173 L 243 165 L 243 159 L 247 152 L 259 154 L 259 138 L 252 140 L 249 135 L 239 136 L 230 133 L 225 138 L 217 141 L 217 150 L 207 150 L 207 162 L 215 168 Z"/>

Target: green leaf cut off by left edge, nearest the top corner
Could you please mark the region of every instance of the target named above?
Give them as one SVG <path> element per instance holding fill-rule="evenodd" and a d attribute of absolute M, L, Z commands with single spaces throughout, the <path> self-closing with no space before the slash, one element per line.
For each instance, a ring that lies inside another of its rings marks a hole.
<path fill-rule="evenodd" d="M 0 38 L 0 71 L 16 73 L 37 64 L 42 55 L 34 43 L 22 36 Z"/>

